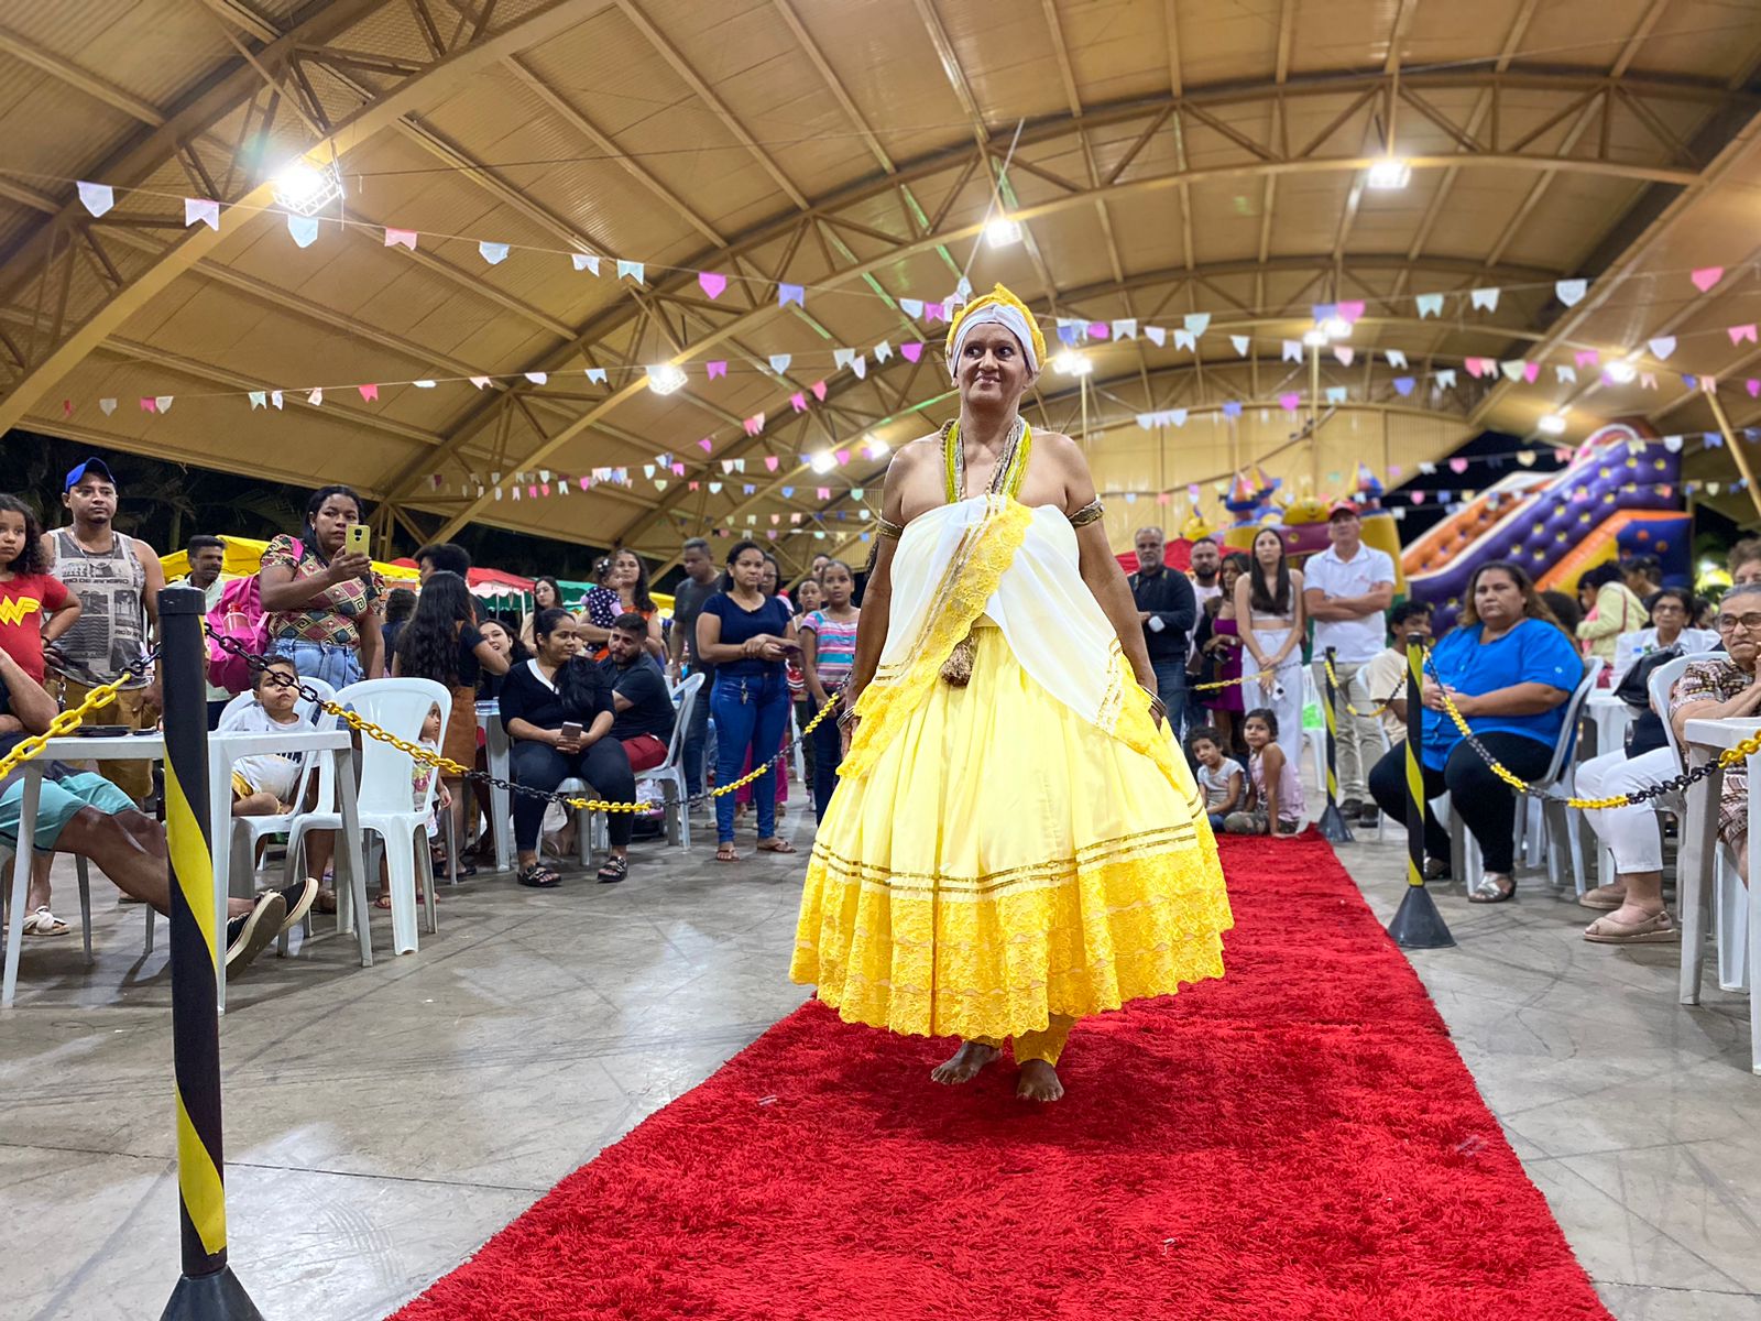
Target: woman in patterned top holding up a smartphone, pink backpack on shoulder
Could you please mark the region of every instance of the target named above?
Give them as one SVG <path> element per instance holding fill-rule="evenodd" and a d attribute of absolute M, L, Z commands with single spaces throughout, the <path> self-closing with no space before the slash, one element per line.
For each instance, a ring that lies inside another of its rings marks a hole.
<path fill-rule="evenodd" d="M 269 655 L 335 689 L 384 673 L 386 579 L 366 553 L 361 497 L 326 486 L 298 537 L 269 542 L 257 571 Z"/>

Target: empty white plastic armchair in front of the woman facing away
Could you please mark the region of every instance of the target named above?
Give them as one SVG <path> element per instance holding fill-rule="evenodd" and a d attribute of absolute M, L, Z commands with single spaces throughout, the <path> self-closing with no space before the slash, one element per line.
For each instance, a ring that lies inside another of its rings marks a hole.
<path fill-rule="evenodd" d="M 446 729 L 453 694 L 428 678 L 370 678 L 350 683 L 336 694 L 336 701 L 354 708 L 391 734 L 416 743 L 431 706 L 440 708 L 440 727 Z M 361 831 L 375 833 L 386 845 L 386 870 L 391 877 L 391 948 L 409 955 L 416 949 L 416 838 L 424 833 L 433 810 L 438 771 L 428 779 L 428 794 L 417 807 L 410 803 L 410 777 L 416 764 L 407 752 L 398 752 L 377 738 L 361 738 Z M 342 830 L 340 812 L 301 812 L 292 821 L 287 849 L 294 852 L 308 830 Z M 423 849 L 423 858 L 428 849 Z M 365 868 L 363 868 L 365 870 Z M 435 925 L 435 877 L 430 867 L 423 886 L 430 934 Z M 366 921 L 366 877 L 354 877 L 356 921 Z"/>

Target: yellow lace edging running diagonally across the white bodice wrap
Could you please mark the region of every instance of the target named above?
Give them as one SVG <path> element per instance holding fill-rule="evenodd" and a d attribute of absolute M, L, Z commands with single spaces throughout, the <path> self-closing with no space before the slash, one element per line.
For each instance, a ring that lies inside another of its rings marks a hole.
<path fill-rule="evenodd" d="M 984 516 L 960 537 L 910 659 L 875 673 L 856 701 L 856 715 L 861 719 L 838 775 L 865 775 L 935 687 L 942 662 L 984 613 L 984 602 L 1014 562 L 1032 521 L 1034 511 L 1027 506 L 1002 495 L 984 497 Z"/>

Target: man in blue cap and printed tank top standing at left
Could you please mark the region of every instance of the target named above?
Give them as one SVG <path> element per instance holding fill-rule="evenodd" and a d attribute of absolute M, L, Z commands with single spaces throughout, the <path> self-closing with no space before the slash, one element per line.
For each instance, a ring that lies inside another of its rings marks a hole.
<path fill-rule="evenodd" d="M 113 682 L 146 655 L 166 571 L 151 546 L 111 527 L 116 479 L 102 460 L 88 458 L 67 474 L 62 504 L 72 523 L 44 534 L 42 548 L 51 572 L 79 597 L 79 622 L 44 659 L 49 692 L 63 706 L 77 706 L 99 683 Z M 148 729 L 157 719 L 158 682 L 143 673 L 90 712 L 86 724 Z M 153 789 L 148 761 L 102 761 L 99 773 L 137 803 Z"/>

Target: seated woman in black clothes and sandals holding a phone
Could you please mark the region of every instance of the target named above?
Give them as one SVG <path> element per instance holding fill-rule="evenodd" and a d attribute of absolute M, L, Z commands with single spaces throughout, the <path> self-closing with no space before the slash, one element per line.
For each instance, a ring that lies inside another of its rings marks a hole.
<path fill-rule="evenodd" d="M 611 738 L 616 712 L 611 678 L 581 655 L 581 632 L 567 609 L 544 609 L 532 622 L 537 655 L 507 671 L 502 682 L 502 727 L 512 740 L 514 780 L 551 793 L 574 777 L 611 803 L 636 798 L 636 775 L 623 743 Z M 539 830 L 546 801 L 514 794 L 514 851 L 519 884 L 551 889 L 562 877 L 539 861 Z M 630 812 L 608 812 L 611 856 L 599 868 L 601 884 L 630 872 Z"/>

